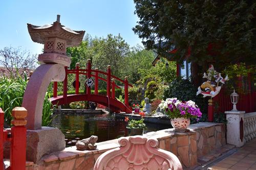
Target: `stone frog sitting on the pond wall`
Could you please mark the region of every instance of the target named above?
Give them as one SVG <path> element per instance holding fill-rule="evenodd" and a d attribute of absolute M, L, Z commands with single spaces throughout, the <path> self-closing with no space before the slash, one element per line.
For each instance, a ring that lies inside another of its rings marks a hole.
<path fill-rule="evenodd" d="M 98 136 L 91 136 L 86 139 L 82 139 L 76 142 L 76 149 L 80 151 L 84 150 L 96 150 L 97 145 L 95 144 L 98 140 Z"/>

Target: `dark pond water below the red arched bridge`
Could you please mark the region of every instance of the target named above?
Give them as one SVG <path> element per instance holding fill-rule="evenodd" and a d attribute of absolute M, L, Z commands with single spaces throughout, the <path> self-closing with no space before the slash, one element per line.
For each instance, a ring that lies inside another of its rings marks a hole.
<path fill-rule="evenodd" d="M 145 123 L 144 133 L 172 128 L 171 125 Z M 77 140 L 98 136 L 98 141 L 116 139 L 127 135 L 126 122 L 112 114 L 56 114 L 51 127 L 65 134 L 67 147 L 75 145 Z"/>

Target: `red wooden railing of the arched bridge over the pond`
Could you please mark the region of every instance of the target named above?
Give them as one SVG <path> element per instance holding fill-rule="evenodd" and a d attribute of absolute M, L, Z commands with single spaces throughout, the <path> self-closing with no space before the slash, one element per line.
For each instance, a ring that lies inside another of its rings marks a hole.
<path fill-rule="evenodd" d="M 103 80 L 106 82 L 106 95 L 110 98 L 115 99 L 115 88 L 120 88 L 116 83 L 115 80 L 124 84 L 124 104 L 128 107 L 129 106 L 129 94 L 128 88 L 133 87 L 131 84 L 128 83 L 127 78 L 125 77 L 124 80 L 111 75 L 111 66 L 108 65 L 106 72 L 98 70 L 98 68 L 92 69 L 91 60 L 88 59 L 87 61 L 87 68 L 80 69 L 79 63 L 76 63 L 75 69 L 68 69 L 65 67 L 66 75 L 65 80 L 63 81 L 63 99 L 67 102 L 67 92 L 68 92 L 68 74 L 75 74 L 75 94 L 79 94 L 79 75 L 86 75 L 87 78 L 94 77 L 94 94 L 98 94 L 98 83 L 99 80 Z M 99 74 L 105 75 L 105 78 L 99 76 Z M 86 86 L 86 94 L 91 94 L 91 88 Z M 53 83 L 53 98 L 57 98 L 57 82 Z"/>

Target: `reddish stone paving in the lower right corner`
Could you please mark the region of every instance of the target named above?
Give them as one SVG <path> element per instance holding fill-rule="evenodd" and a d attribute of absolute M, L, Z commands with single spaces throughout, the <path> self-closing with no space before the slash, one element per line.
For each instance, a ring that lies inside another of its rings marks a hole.
<path fill-rule="evenodd" d="M 256 138 L 245 143 L 236 153 L 208 167 L 210 170 L 256 170 Z"/>

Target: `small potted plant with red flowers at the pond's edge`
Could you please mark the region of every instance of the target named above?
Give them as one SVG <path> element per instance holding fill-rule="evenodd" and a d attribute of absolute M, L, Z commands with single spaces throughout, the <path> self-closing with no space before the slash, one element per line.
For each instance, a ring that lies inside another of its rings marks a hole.
<path fill-rule="evenodd" d="M 144 121 L 144 112 L 139 112 L 141 119 L 139 120 L 134 120 L 134 119 L 129 119 L 129 117 L 125 117 L 124 121 L 127 122 L 127 130 L 128 130 L 128 135 L 129 136 L 134 136 L 134 135 L 143 135 L 143 130 L 146 127 L 146 125 L 143 123 Z"/>

